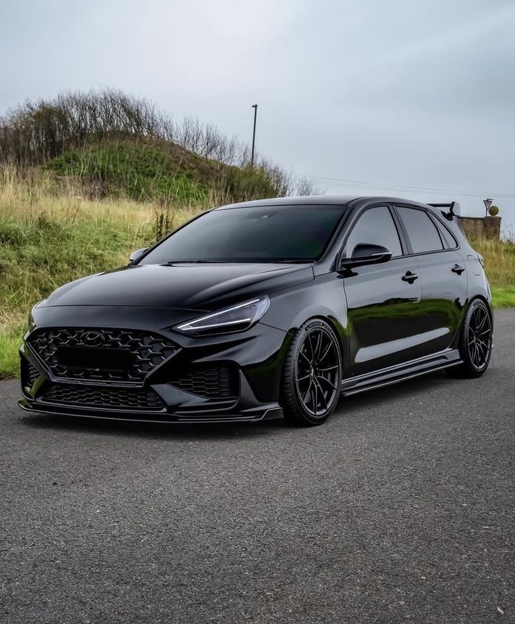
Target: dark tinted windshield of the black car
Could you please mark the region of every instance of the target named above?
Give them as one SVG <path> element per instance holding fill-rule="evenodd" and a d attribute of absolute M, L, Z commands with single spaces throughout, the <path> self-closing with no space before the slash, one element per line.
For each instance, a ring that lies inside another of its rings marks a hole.
<path fill-rule="evenodd" d="M 212 211 L 178 229 L 139 264 L 313 261 L 346 209 L 307 204 Z"/>

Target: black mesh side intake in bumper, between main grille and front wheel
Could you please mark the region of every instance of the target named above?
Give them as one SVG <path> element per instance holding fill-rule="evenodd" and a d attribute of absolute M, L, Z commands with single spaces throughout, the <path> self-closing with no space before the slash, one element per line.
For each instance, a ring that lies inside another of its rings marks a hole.
<path fill-rule="evenodd" d="M 192 369 L 169 383 L 205 399 L 235 399 L 237 397 L 237 378 L 229 367 Z"/>

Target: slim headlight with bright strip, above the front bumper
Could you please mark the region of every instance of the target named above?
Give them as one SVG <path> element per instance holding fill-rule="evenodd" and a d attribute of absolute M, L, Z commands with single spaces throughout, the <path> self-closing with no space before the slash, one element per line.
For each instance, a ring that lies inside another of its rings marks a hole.
<path fill-rule="evenodd" d="M 185 334 L 207 335 L 226 334 L 228 332 L 243 332 L 258 322 L 269 309 L 269 297 L 260 297 L 250 302 L 231 306 L 219 312 L 213 312 L 190 320 L 176 329 Z"/>

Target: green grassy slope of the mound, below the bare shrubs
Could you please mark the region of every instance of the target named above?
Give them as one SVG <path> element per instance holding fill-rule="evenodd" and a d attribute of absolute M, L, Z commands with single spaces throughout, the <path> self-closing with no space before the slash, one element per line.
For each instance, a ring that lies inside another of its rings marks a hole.
<path fill-rule="evenodd" d="M 56 187 L 87 197 L 206 204 L 215 191 L 225 200 L 273 197 L 261 169 L 240 169 L 203 158 L 170 141 L 125 139 L 85 143 L 44 165 Z"/>

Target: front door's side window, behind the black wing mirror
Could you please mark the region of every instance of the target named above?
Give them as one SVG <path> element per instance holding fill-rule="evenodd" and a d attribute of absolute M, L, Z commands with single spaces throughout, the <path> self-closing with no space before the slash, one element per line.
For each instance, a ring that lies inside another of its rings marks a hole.
<path fill-rule="evenodd" d="M 386 206 L 369 208 L 360 216 L 347 239 L 347 257 L 351 257 L 355 246 L 360 243 L 381 245 L 388 248 L 393 256 L 402 255 L 397 227 Z"/>

